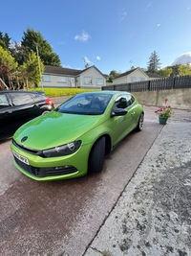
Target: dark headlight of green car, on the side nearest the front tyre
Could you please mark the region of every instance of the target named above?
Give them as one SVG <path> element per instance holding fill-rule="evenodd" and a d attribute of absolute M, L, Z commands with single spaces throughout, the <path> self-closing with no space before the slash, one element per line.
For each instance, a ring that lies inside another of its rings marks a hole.
<path fill-rule="evenodd" d="M 81 146 L 81 141 L 77 140 L 65 145 L 57 146 L 49 150 L 42 151 L 45 157 L 56 157 L 74 153 Z"/>

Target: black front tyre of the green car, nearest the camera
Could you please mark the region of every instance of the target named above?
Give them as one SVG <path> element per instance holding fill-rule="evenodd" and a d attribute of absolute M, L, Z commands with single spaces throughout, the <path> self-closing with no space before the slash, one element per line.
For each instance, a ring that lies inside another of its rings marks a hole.
<path fill-rule="evenodd" d="M 105 137 L 101 137 L 96 141 L 90 153 L 88 171 L 91 173 L 100 173 L 103 170 L 104 158 Z"/>

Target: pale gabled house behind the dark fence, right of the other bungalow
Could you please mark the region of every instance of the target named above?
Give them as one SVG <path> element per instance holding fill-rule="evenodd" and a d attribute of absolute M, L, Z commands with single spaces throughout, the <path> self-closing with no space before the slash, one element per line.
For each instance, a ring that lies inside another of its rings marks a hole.
<path fill-rule="evenodd" d="M 129 71 L 126 71 L 125 73 L 121 73 L 116 79 L 113 80 L 113 83 L 128 83 L 134 81 L 149 81 L 156 79 L 161 79 L 161 77 L 157 74 L 147 74 L 140 68 L 133 68 Z"/>

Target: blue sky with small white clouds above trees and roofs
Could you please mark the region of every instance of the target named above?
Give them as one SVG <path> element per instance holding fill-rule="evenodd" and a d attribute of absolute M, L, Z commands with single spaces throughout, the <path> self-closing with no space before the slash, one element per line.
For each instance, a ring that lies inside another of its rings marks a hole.
<path fill-rule="evenodd" d="M 28 28 L 48 41 L 63 67 L 95 65 L 103 74 L 161 68 L 191 53 L 191 0 L 2 1 L 0 32 L 20 42 Z"/>

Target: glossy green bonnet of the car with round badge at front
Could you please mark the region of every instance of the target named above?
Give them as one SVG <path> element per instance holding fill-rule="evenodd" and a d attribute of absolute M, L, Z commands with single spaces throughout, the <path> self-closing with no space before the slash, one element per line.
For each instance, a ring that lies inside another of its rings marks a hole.
<path fill-rule="evenodd" d="M 44 150 L 80 139 L 101 123 L 101 115 L 76 115 L 52 111 L 28 122 L 13 135 L 26 148 Z M 22 139 L 25 137 L 25 141 Z"/>

